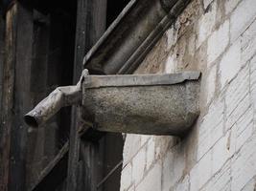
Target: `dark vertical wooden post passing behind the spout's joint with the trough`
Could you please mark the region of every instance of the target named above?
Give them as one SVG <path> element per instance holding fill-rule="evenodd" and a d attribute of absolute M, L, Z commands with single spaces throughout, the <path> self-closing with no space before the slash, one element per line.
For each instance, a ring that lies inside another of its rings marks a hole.
<path fill-rule="evenodd" d="M 74 83 L 77 83 L 81 76 L 83 56 L 105 32 L 105 17 L 106 0 L 78 0 Z M 73 108 L 70 130 L 67 190 L 74 191 L 79 190 L 77 182 L 81 146 L 81 140 L 78 135 L 80 125 L 79 116 L 79 109 Z M 88 156 L 90 156 L 90 153 L 88 153 Z M 87 191 L 92 190 L 90 189 L 90 185 L 86 187 L 88 188 L 86 189 Z"/>

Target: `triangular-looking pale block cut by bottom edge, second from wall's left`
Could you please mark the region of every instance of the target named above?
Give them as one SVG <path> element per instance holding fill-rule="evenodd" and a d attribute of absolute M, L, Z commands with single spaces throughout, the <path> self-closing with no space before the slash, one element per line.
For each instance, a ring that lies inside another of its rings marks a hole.
<path fill-rule="evenodd" d="M 136 191 L 160 191 L 161 190 L 161 164 L 156 163 L 149 174 L 136 187 Z"/>

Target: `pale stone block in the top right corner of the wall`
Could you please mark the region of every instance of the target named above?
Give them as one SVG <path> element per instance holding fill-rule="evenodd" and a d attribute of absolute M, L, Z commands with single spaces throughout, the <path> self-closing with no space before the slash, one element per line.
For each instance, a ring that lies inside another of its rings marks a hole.
<path fill-rule="evenodd" d="M 256 17 L 256 1 L 244 0 L 230 17 L 231 42 L 234 42 Z"/>

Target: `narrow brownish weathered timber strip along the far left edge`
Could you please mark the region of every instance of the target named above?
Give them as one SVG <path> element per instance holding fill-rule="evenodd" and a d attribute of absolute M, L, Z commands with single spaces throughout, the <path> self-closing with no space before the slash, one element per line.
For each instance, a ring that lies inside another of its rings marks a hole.
<path fill-rule="evenodd" d="M 0 190 L 8 190 L 9 159 L 11 147 L 13 89 L 14 89 L 14 55 L 16 39 L 17 6 L 14 5 L 6 15 L 6 59 L 4 62 L 2 128 L 0 133 L 1 158 L 0 158 Z"/>

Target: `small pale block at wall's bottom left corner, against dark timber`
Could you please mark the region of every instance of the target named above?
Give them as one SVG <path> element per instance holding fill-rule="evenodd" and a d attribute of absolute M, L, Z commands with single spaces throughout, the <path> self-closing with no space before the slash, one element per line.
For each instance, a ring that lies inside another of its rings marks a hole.
<path fill-rule="evenodd" d="M 131 183 L 131 164 L 128 163 L 122 169 L 120 191 L 128 190 L 128 187 L 130 187 Z"/>

